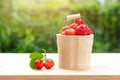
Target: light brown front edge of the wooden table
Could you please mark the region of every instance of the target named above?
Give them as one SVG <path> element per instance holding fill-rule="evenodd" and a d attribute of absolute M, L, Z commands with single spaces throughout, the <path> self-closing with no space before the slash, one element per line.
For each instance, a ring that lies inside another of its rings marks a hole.
<path fill-rule="evenodd" d="M 0 80 L 120 80 L 120 75 L 0 76 Z"/>

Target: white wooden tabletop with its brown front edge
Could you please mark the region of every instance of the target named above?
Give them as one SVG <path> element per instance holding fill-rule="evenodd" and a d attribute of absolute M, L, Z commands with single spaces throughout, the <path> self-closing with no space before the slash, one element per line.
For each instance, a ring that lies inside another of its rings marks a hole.
<path fill-rule="evenodd" d="M 91 68 L 64 70 L 58 67 L 58 54 L 47 54 L 55 61 L 51 70 L 29 67 L 29 53 L 0 53 L 0 80 L 120 80 L 120 54 L 92 54 Z"/>

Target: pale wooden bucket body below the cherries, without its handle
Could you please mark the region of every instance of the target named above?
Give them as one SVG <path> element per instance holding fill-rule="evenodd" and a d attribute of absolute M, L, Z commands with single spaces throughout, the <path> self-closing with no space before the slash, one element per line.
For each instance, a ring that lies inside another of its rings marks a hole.
<path fill-rule="evenodd" d="M 88 69 L 94 35 L 66 36 L 57 34 L 59 67 L 63 69 Z"/>

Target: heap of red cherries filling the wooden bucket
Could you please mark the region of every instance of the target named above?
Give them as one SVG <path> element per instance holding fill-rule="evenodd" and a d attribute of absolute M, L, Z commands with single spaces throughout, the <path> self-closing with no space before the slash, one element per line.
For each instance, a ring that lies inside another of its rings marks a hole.
<path fill-rule="evenodd" d="M 62 35 L 90 35 L 92 30 L 84 24 L 84 20 L 77 18 L 69 26 L 62 27 Z"/>

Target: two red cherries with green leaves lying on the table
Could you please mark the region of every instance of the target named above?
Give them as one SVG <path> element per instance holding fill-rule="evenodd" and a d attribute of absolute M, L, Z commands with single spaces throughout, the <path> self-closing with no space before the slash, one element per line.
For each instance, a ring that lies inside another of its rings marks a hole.
<path fill-rule="evenodd" d="M 43 67 L 46 69 L 51 69 L 54 66 L 53 59 L 47 59 L 46 53 L 33 52 L 30 54 L 30 67 L 32 69 L 41 70 Z"/>

